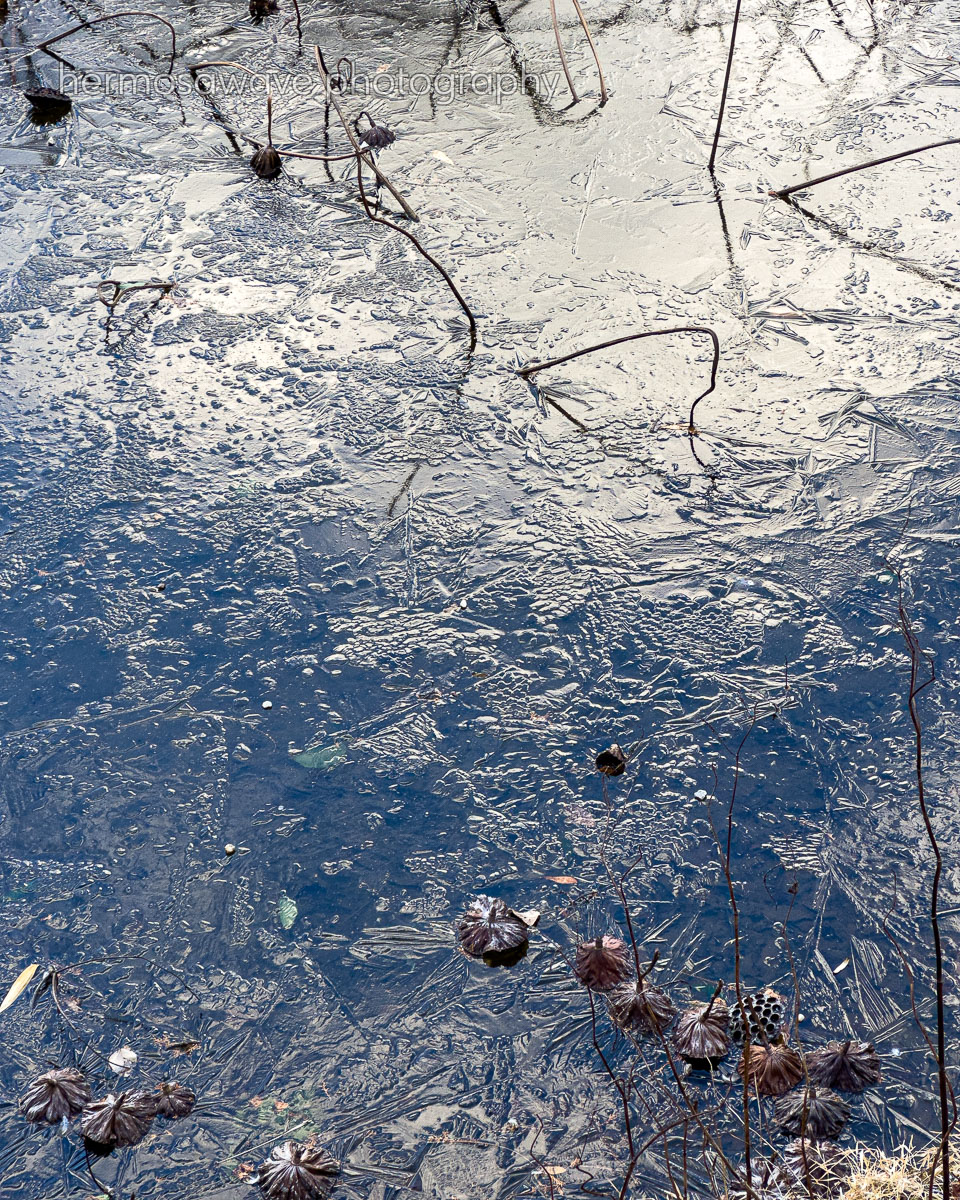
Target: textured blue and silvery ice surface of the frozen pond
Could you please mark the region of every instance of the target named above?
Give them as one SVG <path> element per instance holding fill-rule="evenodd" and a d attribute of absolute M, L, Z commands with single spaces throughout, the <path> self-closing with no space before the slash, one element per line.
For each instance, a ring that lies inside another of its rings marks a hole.
<path fill-rule="evenodd" d="M 239 0 L 160 11 L 178 71 L 306 76 L 282 8 L 259 25 Z M 803 1036 L 883 1055 L 847 1139 L 935 1124 L 881 929 L 896 880 L 890 926 L 929 1016 L 929 854 L 883 556 L 937 655 L 923 713 L 949 911 L 956 148 L 824 185 L 805 212 L 767 191 L 956 134 L 960 16 L 746 0 L 715 187 L 731 10 L 594 0 L 604 109 L 572 12 L 574 108 L 562 79 L 552 103 L 506 85 L 499 103 L 346 101 L 397 131 L 382 166 L 478 312 L 473 353 L 442 281 L 364 218 L 349 164 L 257 180 L 182 76 L 174 96 L 91 89 L 38 128 L 18 90 L 36 77 L 6 72 L 0 966 L 148 956 L 89 972 L 103 998 L 76 1014 L 95 1046 L 128 1043 L 200 1093 L 196 1118 L 122 1159 L 138 1200 L 247 1195 L 245 1164 L 284 1129 L 344 1159 L 348 1196 L 538 1194 L 538 1118 L 551 1162 L 601 1175 L 616 1097 L 551 944 L 622 929 L 594 755 L 637 750 L 610 786 L 611 857 L 644 852 L 631 898 L 659 983 L 709 995 L 731 925 L 696 793 L 718 764 L 726 803 L 719 739 L 755 704 L 734 834 L 745 982 L 792 991 L 776 926 L 796 878 Z M 102 11 L 11 0 L 7 58 Z M 370 73 L 558 71 L 546 2 L 302 12 L 305 46 Z M 59 49 L 156 74 L 167 47 L 132 18 Z M 222 107 L 263 137 L 262 98 Z M 277 96 L 278 144 L 342 146 L 323 108 Z M 107 328 L 96 284 L 150 277 L 178 288 Z M 706 344 L 539 377 L 590 433 L 515 373 L 677 324 L 722 346 L 697 412 L 708 470 L 685 433 Z M 544 910 L 511 970 L 456 950 L 476 890 Z M 944 929 L 955 964 L 954 916 Z M 0 1020 L 6 1099 L 78 1043 L 25 1001 Z M 5 1196 L 85 1194 L 76 1141 L 13 1108 L 0 1166 Z M 662 1188 L 656 1147 L 637 1180 Z"/>

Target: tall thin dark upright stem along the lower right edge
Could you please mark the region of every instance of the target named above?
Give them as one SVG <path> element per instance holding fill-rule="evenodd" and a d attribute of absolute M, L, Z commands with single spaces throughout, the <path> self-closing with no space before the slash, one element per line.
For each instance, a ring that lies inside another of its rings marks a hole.
<path fill-rule="evenodd" d="M 954 139 L 960 140 L 960 139 Z M 889 566 L 889 563 L 887 564 Z M 940 1153 L 942 1157 L 941 1166 L 941 1180 L 943 1184 L 943 1200 L 949 1200 L 950 1196 L 950 1120 L 947 1111 L 947 1093 L 949 1091 L 949 1080 L 947 1079 L 947 1046 L 946 1046 L 946 1014 L 943 1003 L 943 946 L 940 935 L 940 881 L 943 874 L 943 856 L 940 851 L 940 842 L 937 841 L 937 835 L 934 830 L 934 823 L 930 820 L 930 812 L 926 806 L 926 793 L 924 790 L 924 775 L 923 775 L 923 730 L 920 726 L 920 716 L 917 709 L 917 697 L 932 683 L 936 683 L 937 671 L 932 658 L 925 655 L 920 649 L 920 643 L 917 640 L 917 635 L 913 630 L 913 623 L 907 613 L 906 605 L 904 602 L 904 577 L 902 571 L 890 568 L 896 576 L 896 611 L 900 620 L 900 632 L 902 635 L 904 642 L 910 654 L 910 690 L 907 692 L 907 712 L 910 714 L 910 721 L 913 726 L 913 740 L 914 740 L 914 774 L 917 779 L 917 803 L 919 804 L 920 816 L 923 817 L 924 829 L 926 830 L 926 840 L 930 844 L 930 850 L 934 853 L 934 883 L 930 889 L 930 926 L 934 934 L 934 966 L 936 972 L 936 1002 L 937 1002 L 937 1079 L 940 1084 Z M 926 677 L 920 678 L 920 668 L 925 668 Z M 932 1187 L 932 1182 L 931 1182 Z"/>

